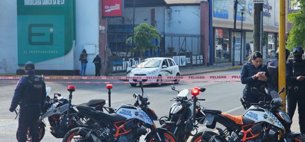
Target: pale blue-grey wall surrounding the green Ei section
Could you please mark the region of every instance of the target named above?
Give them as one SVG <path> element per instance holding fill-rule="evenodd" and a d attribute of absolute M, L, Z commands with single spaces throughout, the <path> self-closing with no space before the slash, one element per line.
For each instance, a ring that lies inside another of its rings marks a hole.
<path fill-rule="evenodd" d="M 37 69 L 75 70 L 80 69 L 79 55 L 84 45 L 92 49 L 88 54 L 87 75 L 95 74 L 94 57 L 99 53 L 99 1 L 76 1 L 76 42 L 72 50 L 65 56 L 64 64 L 36 64 Z M 0 1 L 0 74 L 16 74 L 23 66 L 17 64 L 17 1 Z"/>

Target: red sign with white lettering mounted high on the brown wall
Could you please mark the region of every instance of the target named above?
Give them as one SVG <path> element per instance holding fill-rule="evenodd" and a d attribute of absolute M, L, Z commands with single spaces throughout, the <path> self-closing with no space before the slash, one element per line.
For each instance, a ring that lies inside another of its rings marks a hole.
<path fill-rule="evenodd" d="M 122 0 L 103 0 L 102 16 L 122 16 Z"/>

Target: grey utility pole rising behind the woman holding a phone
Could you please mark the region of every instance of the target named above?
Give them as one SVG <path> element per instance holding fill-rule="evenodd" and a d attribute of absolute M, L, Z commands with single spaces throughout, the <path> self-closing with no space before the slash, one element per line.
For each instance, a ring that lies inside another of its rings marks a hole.
<path fill-rule="evenodd" d="M 263 11 L 263 3 L 254 4 L 254 23 L 253 23 L 253 49 L 260 51 L 260 14 Z M 254 52 L 252 51 L 252 53 Z"/>

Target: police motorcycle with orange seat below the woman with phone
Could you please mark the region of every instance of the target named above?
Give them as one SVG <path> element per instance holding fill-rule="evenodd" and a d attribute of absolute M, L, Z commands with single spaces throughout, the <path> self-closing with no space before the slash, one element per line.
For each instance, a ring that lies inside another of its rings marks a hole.
<path fill-rule="evenodd" d="M 278 93 L 284 92 L 285 88 Z M 253 94 L 265 97 L 256 88 Z M 271 93 L 277 93 L 271 91 Z M 216 128 L 219 132 L 205 131 L 196 134 L 191 141 L 305 141 L 300 133 L 291 132 L 289 116 L 280 107 L 284 107 L 281 98 L 271 102 L 260 101 L 252 106 L 242 116 L 232 116 L 218 110 L 203 110 L 206 115 L 204 124 L 214 129 L 216 123 L 226 128 Z M 281 135 L 281 136 L 280 136 Z M 280 136 L 280 138 L 279 138 Z"/>

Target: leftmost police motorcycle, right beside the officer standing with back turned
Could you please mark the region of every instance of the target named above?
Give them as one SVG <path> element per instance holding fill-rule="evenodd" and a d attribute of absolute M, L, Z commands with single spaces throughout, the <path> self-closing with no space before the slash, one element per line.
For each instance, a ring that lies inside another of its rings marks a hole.
<path fill-rule="evenodd" d="M 63 138 L 65 134 L 72 128 L 89 125 L 88 123 L 90 122 L 90 120 L 88 118 L 77 114 L 77 110 L 75 109 L 75 106 L 78 105 L 71 104 L 72 92 L 75 91 L 75 88 L 74 89 L 68 88 L 68 91 L 70 92 L 69 99 L 66 97 L 62 97 L 59 92 L 54 93 L 53 98 L 51 98 L 49 96 L 51 87 L 49 86 L 46 87 L 46 91 L 47 91 L 46 105 L 42 109 L 41 116 L 39 118 L 39 141 L 42 140 L 45 134 L 45 127 L 46 127 L 46 123 L 44 122 L 45 118 L 48 118 L 50 124 L 50 130 L 51 130 L 50 132 L 56 138 Z M 99 111 L 103 111 L 105 103 L 106 100 L 104 99 L 92 99 L 86 103 L 82 103 L 79 105 L 94 107 Z M 67 116 L 69 116 L 68 119 Z M 16 133 L 16 138 L 18 139 L 17 133 Z M 32 141 L 29 131 L 27 132 L 27 140 Z"/>

